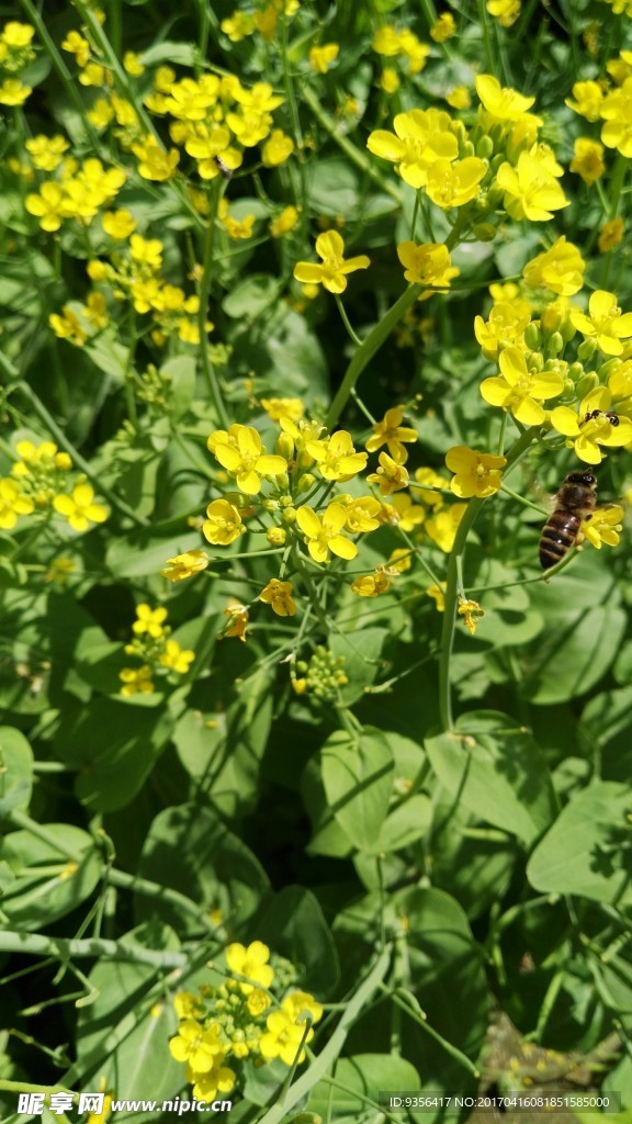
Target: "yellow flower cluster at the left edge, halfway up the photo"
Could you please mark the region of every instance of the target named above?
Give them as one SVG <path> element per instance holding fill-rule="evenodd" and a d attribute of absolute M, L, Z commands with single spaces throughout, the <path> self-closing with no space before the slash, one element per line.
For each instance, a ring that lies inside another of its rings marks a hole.
<path fill-rule="evenodd" d="M 71 457 L 54 442 L 19 441 L 16 452 L 19 460 L 10 477 L 0 480 L 0 528 L 12 531 L 26 515 L 48 520 L 57 514 L 78 532 L 105 523 L 107 508 L 94 501 L 94 489 L 83 475 L 71 475 Z"/>

